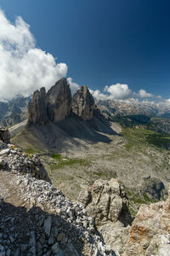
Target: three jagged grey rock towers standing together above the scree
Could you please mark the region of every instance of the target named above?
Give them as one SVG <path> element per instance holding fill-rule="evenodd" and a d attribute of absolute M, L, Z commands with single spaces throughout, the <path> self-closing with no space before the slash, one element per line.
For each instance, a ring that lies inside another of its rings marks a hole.
<path fill-rule="evenodd" d="M 45 88 L 34 92 L 28 103 L 28 124 L 47 124 L 49 121 L 55 124 L 71 116 L 88 120 L 95 116 L 95 108 L 94 97 L 87 86 L 83 85 L 71 99 L 67 80 L 60 79 L 47 93 Z"/>

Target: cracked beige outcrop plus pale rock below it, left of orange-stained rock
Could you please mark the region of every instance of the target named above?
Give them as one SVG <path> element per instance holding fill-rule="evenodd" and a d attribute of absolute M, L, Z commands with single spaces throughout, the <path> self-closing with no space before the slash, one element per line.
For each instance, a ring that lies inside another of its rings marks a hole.
<path fill-rule="evenodd" d="M 132 223 L 123 186 L 114 178 L 99 179 L 92 187 L 82 190 L 78 201 L 86 207 L 88 216 L 94 218 L 105 242 L 114 247 L 116 253 L 122 253 Z"/>

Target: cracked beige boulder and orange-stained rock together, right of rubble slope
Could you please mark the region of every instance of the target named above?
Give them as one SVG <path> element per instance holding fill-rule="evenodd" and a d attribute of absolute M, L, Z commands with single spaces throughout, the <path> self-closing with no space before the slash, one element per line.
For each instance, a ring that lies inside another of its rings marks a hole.
<path fill-rule="evenodd" d="M 80 193 L 79 201 L 116 255 L 170 255 L 170 187 L 167 201 L 141 205 L 134 219 L 123 186 L 116 179 L 97 180 Z"/>

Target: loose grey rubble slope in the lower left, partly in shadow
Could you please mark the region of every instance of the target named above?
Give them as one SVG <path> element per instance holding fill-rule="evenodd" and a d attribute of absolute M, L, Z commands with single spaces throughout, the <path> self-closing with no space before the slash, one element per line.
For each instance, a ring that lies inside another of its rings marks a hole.
<path fill-rule="evenodd" d="M 0 144 L 0 255 L 116 255 L 81 205 L 49 182 L 36 155 Z"/>

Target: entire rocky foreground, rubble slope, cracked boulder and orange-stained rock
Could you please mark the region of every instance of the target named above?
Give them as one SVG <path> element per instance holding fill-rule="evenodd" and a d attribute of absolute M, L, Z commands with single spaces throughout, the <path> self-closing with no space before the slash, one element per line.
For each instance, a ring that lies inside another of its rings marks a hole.
<path fill-rule="evenodd" d="M 54 188 L 37 155 L 10 144 L 8 131 L 1 139 L 1 256 L 169 256 L 170 193 L 134 219 L 116 179 L 97 180 L 75 203 Z"/>

